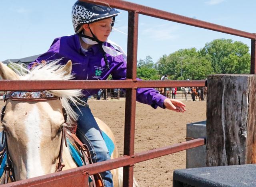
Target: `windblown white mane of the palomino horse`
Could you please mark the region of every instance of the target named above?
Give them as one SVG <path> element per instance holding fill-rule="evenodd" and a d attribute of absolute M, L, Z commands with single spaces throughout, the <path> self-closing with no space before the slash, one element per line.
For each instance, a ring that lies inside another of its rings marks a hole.
<path fill-rule="evenodd" d="M 64 67 L 59 65 L 60 60 L 48 61 L 45 64 L 40 64 L 31 70 L 28 70 L 24 64 L 10 63 L 10 67 L 16 72 L 20 80 L 70 80 L 74 78 L 74 75 L 65 75 L 66 72 L 60 71 L 60 68 Z M 74 112 L 69 102 L 78 104 L 77 100 L 80 100 L 78 96 L 82 96 L 81 90 L 49 90 L 49 93 L 54 94 L 61 98 L 62 105 L 68 112 L 67 125 L 70 125 L 72 121 L 77 120 L 77 114 Z"/>

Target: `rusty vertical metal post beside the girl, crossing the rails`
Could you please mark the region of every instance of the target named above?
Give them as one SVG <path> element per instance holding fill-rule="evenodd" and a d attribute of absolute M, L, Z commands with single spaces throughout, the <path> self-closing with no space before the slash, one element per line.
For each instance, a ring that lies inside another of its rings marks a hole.
<path fill-rule="evenodd" d="M 138 49 L 138 13 L 128 15 L 127 79 L 136 81 Z M 124 155 L 134 155 L 136 89 L 126 89 L 124 120 Z M 132 187 L 133 165 L 124 167 L 123 186 Z"/>

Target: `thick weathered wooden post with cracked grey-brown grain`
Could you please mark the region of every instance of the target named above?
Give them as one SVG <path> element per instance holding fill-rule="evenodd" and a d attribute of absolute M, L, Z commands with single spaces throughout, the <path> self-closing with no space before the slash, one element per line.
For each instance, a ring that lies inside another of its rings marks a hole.
<path fill-rule="evenodd" d="M 207 79 L 206 165 L 256 163 L 256 76 Z"/>

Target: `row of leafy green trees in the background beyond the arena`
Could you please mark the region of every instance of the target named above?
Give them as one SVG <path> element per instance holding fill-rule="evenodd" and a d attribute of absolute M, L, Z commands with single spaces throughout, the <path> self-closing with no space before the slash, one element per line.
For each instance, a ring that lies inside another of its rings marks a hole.
<path fill-rule="evenodd" d="M 169 80 L 203 80 L 219 73 L 250 73 L 248 45 L 232 39 L 215 39 L 200 50 L 180 49 L 162 55 L 157 62 L 150 56 L 137 61 L 137 77 L 144 80 L 159 80 L 162 75 L 168 75 Z"/>

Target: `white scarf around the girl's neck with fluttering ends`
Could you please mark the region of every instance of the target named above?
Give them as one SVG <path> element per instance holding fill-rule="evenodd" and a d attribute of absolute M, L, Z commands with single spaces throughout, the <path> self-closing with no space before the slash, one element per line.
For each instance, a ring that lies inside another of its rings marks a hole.
<path fill-rule="evenodd" d="M 93 41 L 93 40 L 91 40 L 91 39 L 89 39 L 89 38 L 86 38 L 86 37 L 81 37 L 81 38 L 82 38 L 82 40 L 83 40 L 85 43 L 87 43 L 87 44 L 89 44 L 89 45 L 98 44 L 97 41 Z M 111 41 L 110 39 L 108 39 L 106 42 L 110 43 L 111 45 L 115 45 L 115 46 L 118 48 L 118 50 L 120 51 L 120 52 L 119 52 L 119 51 L 116 51 L 115 49 L 112 49 L 112 48 L 110 48 L 110 47 L 107 47 L 107 46 L 105 46 L 105 45 L 102 45 L 103 50 L 104 50 L 107 54 L 109 54 L 109 55 L 111 55 L 111 56 L 113 56 L 113 57 L 116 57 L 116 56 L 118 56 L 118 55 L 123 55 L 124 59 L 125 59 L 125 60 L 127 59 L 127 55 L 126 55 L 126 53 L 124 52 L 124 50 L 122 49 L 122 47 L 121 47 L 120 45 L 117 45 L 114 41 Z"/>

